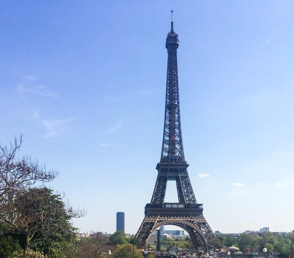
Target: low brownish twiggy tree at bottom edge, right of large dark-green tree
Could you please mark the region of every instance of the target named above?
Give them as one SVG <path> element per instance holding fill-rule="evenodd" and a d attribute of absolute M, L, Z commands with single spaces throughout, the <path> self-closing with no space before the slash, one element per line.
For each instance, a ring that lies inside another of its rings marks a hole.
<path fill-rule="evenodd" d="M 101 258 L 108 257 L 108 238 L 94 233 L 90 237 L 83 237 L 78 242 L 75 258 Z"/>

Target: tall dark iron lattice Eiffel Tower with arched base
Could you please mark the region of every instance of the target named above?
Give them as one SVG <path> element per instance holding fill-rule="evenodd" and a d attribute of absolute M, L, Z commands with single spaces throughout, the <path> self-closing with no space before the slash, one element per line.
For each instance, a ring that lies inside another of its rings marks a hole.
<path fill-rule="evenodd" d="M 171 31 L 166 38 L 168 52 L 166 105 L 164 116 L 161 159 L 157 163 L 158 176 L 151 203 L 145 206 L 145 218 L 136 234 L 143 244 L 147 244 L 152 232 L 163 225 L 175 225 L 186 230 L 195 249 L 208 250 L 207 239 L 215 237 L 203 217 L 203 204 L 197 203 L 185 161 L 181 133 L 177 49 L 178 34 L 173 30 L 173 11 L 171 11 Z M 175 180 L 178 203 L 165 203 L 168 180 Z"/>

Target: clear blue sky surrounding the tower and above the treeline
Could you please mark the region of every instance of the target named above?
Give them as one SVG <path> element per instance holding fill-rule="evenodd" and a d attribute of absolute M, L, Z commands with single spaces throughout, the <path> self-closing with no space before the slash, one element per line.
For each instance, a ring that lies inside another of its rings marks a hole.
<path fill-rule="evenodd" d="M 23 134 L 22 154 L 60 171 L 49 185 L 88 211 L 76 227 L 112 233 L 124 211 L 136 233 L 161 154 L 171 9 L 204 216 L 214 231 L 292 231 L 292 1 L 3 1 L 1 144 Z"/>

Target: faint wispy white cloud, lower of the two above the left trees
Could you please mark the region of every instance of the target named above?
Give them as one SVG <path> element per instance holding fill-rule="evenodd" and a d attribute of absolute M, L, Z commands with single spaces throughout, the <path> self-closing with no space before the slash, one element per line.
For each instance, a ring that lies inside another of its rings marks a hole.
<path fill-rule="evenodd" d="M 42 125 L 47 131 L 45 137 L 54 137 L 67 131 L 68 125 L 74 120 L 74 118 L 43 120 Z"/>

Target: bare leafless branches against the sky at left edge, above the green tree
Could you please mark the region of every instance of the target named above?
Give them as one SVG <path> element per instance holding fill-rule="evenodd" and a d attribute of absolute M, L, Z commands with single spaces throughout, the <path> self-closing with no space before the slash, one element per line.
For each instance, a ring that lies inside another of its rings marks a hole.
<path fill-rule="evenodd" d="M 7 193 L 26 190 L 36 181 L 52 181 L 58 174 L 56 170 L 47 171 L 45 165 L 44 168 L 39 166 L 38 160 L 32 160 L 30 156 L 19 158 L 21 143 L 22 136 L 19 141 L 15 138 L 9 148 L 0 144 L 0 200 Z"/>

